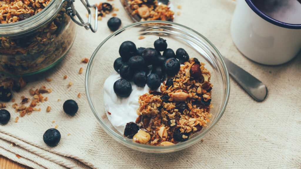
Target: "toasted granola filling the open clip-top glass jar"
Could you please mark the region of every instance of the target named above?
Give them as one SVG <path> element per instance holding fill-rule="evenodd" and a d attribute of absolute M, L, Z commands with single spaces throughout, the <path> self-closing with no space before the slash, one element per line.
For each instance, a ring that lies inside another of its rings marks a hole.
<path fill-rule="evenodd" d="M 1 23 L 27 19 L 50 3 L 50 0 L 5 0 L 0 2 Z M 71 47 L 75 37 L 75 23 L 66 14 L 65 3 L 52 20 L 37 25 L 31 32 L 18 37 L 0 37 L 0 72 L 23 75 L 49 67 Z"/>

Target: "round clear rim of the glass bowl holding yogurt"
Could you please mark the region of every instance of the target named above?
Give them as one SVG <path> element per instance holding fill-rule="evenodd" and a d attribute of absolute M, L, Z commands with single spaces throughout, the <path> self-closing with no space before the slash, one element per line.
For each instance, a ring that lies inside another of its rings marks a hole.
<path fill-rule="evenodd" d="M 142 25 L 142 24 L 146 24 L 146 23 L 163 23 L 163 24 L 171 24 L 171 25 L 176 25 L 176 26 L 180 26 L 186 29 L 189 29 L 190 31 L 196 33 L 197 35 L 199 35 L 201 38 L 203 38 L 206 42 L 209 43 L 209 45 L 214 49 L 214 51 L 216 51 L 216 53 L 218 54 L 218 58 L 220 59 L 220 61 L 222 62 L 222 67 L 225 70 L 225 80 L 226 80 L 226 98 L 225 98 L 225 102 L 222 103 L 222 109 L 219 112 L 218 116 L 216 117 L 216 120 L 214 121 L 214 123 L 212 123 L 205 131 L 203 131 L 200 135 L 198 135 L 197 137 L 191 138 L 185 142 L 181 142 L 175 145 L 171 145 L 171 146 L 151 146 L 151 145 L 145 145 L 145 144 L 139 144 L 139 143 L 134 143 L 134 142 L 124 142 L 124 137 L 121 136 L 120 134 L 117 134 L 115 131 L 113 131 L 111 128 L 109 128 L 107 126 L 107 124 L 105 124 L 105 122 L 101 119 L 101 117 L 98 115 L 97 111 L 94 109 L 93 105 L 92 105 L 92 101 L 91 98 L 89 96 L 89 89 L 88 89 L 88 78 L 89 78 L 89 72 L 91 69 L 91 65 L 92 62 L 94 60 L 95 55 L 98 53 L 98 50 L 101 48 L 102 45 L 104 45 L 104 43 L 106 43 L 110 38 L 112 38 L 113 36 L 119 34 L 120 32 L 122 32 L 123 30 L 129 28 L 129 27 L 133 27 L 133 26 L 137 26 L 137 25 Z M 135 147 L 135 149 L 138 150 L 142 150 L 144 152 L 147 152 L 147 149 L 151 149 L 151 150 L 157 150 L 159 152 L 169 152 L 172 150 L 180 150 L 181 148 L 185 148 L 187 145 L 189 145 L 189 143 L 191 143 L 190 145 L 196 143 L 197 141 L 200 140 L 201 137 L 205 136 L 209 131 L 211 131 L 213 129 L 213 127 L 216 125 L 216 123 L 219 121 L 219 119 L 222 117 L 222 115 L 225 112 L 226 106 L 228 104 L 228 100 L 229 100 L 229 94 L 230 94 L 230 80 L 229 80 L 229 74 L 228 74 L 228 70 L 227 67 L 225 65 L 225 62 L 221 56 L 221 54 L 219 53 L 219 51 L 217 50 L 217 48 L 203 35 L 201 35 L 200 33 L 198 33 L 197 31 L 181 25 L 179 23 L 174 23 L 174 22 L 169 22 L 169 21 L 157 21 L 157 20 L 153 20 L 153 21 L 143 21 L 143 22 L 137 22 L 137 23 L 132 23 L 129 24 L 127 26 L 124 26 L 123 28 L 113 32 L 111 35 L 109 35 L 107 38 L 105 38 L 99 45 L 98 47 L 95 49 L 95 51 L 93 52 L 89 62 L 88 62 L 88 66 L 87 66 L 87 70 L 86 70 L 86 74 L 85 74 L 85 91 L 86 91 L 86 95 L 87 95 L 87 99 L 88 99 L 88 103 L 90 108 L 92 109 L 93 114 L 95 115 L 95 117 L 97 118 L 98 122 L 101 124 L 101 127 L 104 128 L 105 131 L 109 132 L 110 134 L 113 134 L 114 138 L 118 140 L 118 142 L 122 142 L 123 145 L 131 145 L 131 148 Z M 111 136 L 111 137 L 113 137 Z"/>

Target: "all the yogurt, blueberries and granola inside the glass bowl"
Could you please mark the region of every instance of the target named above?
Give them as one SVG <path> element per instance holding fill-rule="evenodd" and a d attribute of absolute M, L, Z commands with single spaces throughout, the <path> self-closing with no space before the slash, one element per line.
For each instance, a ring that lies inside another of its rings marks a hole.
<path fill-rule="evenodd" d="M 174 145 L 210 121 L 211 74 L 183 48 L 167 49 L 163 38 L 154 47 L 141 52 L 131 41 L 120 45 L 116 72 L 104 82 L 105 110 L 117 131 L 133 142 Z"/>

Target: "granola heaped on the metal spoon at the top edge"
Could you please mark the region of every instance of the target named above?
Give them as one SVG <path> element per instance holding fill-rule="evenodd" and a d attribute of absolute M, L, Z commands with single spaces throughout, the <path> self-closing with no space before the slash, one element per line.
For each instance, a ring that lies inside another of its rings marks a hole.
<path fill-rule="evenodd" d="M 158 5 L 157 0 L 128 0 L 130 8 L 133 10 L 132 16 L 138 14 L 140 21 L 145 20 L 165 20 L 172 21 L 174 12 L 165 4 Z"/>

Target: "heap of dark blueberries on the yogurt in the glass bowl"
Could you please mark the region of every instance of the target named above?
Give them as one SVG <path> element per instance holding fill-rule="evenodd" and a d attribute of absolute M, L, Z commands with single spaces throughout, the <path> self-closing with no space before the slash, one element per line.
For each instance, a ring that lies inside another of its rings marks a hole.
<path fill-rule="evenodd" d="M 138 87 L 147 84 L 149 88 L 156 90 L 166 75 L 176 75 L 180 70 L 180 64 L 189 60 L 184 49 L 178 48 L 175 53 L 167 48 L 166 40 L 163 38 L 154 42 L 154 48 L 136 48 L 132 41 L 124 41 L 119 47 L 119 55 L 114 62 L 114 69 L 121 79 L 114 83 L 113 89 L 120 97 L 128 97 L 131 94 L 130 81 Z M 148 75 L 150 70 L 151 74 Z"/>

